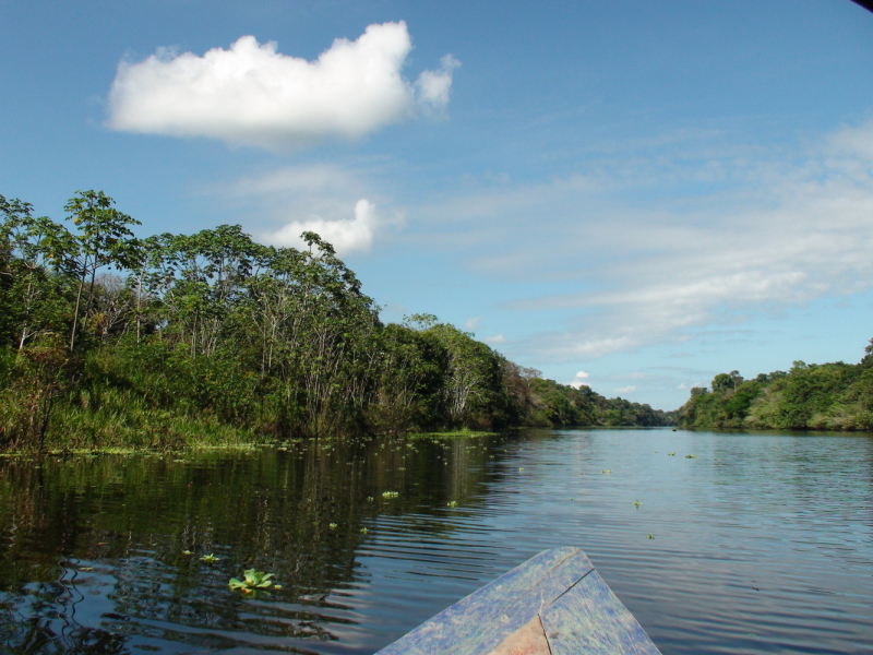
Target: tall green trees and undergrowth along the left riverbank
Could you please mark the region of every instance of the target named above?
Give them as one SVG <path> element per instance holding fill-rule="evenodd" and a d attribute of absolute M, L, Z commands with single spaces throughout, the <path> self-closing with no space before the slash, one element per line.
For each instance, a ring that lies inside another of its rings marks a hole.
<path fill-rule="evenodd" d="M 64 209 L 72 229 L 0 195 L 0 449 L 668 421 L 433 315 L 383 324 L 314 233 L 139 239 L 103 192 Z"/>

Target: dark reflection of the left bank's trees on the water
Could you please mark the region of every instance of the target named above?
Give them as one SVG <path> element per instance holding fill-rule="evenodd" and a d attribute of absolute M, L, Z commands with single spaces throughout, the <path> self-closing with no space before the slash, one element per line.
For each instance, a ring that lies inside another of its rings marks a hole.
<path fill-rule="evenodd" d="M 380 516 L 480 502 L 493 467 L 481 439 L 0 463 L 0 643 L 119 653 L 155 641 L 287 650 L 292 640 L 307 652 L 356 622 L 335 592 L 366 583 L 356 555 L 378 538 Z M 231 592 L 227 581 L 249 568 L 275 573 L 282 588 Z"/>

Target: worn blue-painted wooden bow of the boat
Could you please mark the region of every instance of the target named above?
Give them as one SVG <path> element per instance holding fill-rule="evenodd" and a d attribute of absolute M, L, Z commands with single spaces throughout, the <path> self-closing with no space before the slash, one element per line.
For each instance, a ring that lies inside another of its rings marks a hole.
<path fill-rule="evenodd" d="M 545 550 L 376 655 L 659 655 L 578 548 Z"/>

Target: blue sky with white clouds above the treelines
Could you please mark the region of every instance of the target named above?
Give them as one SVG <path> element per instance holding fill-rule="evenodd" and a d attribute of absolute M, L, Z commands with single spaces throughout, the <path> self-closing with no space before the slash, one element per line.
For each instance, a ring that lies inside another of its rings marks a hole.
<path fill-rule="evenodd" d="M 674 409 L 873 337 L 848 0 L 0 0 L 0 194 L 335 245 L 564 384 Z"/>

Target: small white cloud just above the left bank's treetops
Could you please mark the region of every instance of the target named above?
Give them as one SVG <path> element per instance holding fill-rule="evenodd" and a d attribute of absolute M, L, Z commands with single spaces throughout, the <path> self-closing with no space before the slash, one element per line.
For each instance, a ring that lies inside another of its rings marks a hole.
<path fill-rule="evenodd" d="M 313 231 L 331 243 L 337 254 L 344 255 L 360 250 L 369 252 L 373 243 L 373 234 L 380 226 L 375 207 L 362 198 L 355 203 L 355 216 L 339 221 L 325 221 L 313 216 L 308 221 L 291 221 L 278 230 L 265 236 L 265 240 L 276 246 L 302 249 L 306 243 L 300 235 Z"/>

